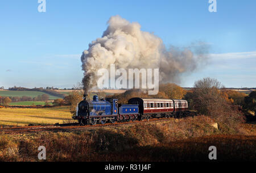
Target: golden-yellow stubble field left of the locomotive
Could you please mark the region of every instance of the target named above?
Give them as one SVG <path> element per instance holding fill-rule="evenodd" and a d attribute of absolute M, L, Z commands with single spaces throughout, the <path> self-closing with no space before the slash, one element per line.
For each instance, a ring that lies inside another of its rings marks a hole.
<path fill-rule="evenodd" d="M 0 108 L 0 125 L 24 126 L 72 121 L 69 107 Z"/>

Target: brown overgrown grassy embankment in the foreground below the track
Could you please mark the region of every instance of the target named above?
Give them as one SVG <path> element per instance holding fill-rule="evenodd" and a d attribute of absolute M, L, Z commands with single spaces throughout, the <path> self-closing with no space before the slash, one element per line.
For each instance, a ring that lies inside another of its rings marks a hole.
<path fill-rule="evenodd" d="M 209 161 L 212 145 L 217 147 L 217 161 L 255 161 L 255 124 L 226 131 L 212 123 L 197 116 L 114 128 L 2 134 L 0 161 L 38 161 L 41 145 L 47 161 Z"/>

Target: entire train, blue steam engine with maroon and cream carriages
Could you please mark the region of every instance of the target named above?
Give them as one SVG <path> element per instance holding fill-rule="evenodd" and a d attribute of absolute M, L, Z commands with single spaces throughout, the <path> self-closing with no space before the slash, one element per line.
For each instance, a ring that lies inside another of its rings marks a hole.
<path fill-rule="evenodd" d="M 107 121 L 143 121 L 152 117 L 181 117 L 188 110 L 187 100 L 131 98 L 128 104 L 118 104 L 115 98 L 98 100 L 98 96 L 94 95 L 90 101 L 86 100 L 86 96 L 78 104 L 76 116 L 72 117 L 80 125 L 105 124 Z"/>

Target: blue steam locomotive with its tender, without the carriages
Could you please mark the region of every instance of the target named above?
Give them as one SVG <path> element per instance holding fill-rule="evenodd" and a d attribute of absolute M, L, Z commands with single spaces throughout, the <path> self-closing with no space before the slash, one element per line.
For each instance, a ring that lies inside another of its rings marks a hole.
<path fill-rule="evenodd" d="M 79 124 L 95 125 L 97 122 L 105 124 L 106 121 L 115 123 L 115 121 L 135 121 L 139 116 L 138 104 L 118 104 L 118 100 L 107 98 L 106 100 L 98 100 L 98 96 L 94 95 L 93 100 L 82 100 L 77 106 L 76 116 Z"/>

